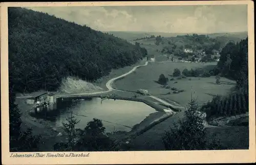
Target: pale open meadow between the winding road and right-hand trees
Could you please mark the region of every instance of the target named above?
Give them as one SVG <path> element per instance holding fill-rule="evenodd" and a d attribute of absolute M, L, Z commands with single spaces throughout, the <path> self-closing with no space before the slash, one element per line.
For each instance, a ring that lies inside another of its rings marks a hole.
<path fill-rule="evenodd" d="M 199 78 L 199 77 L 187 77 L 186 79 L 180 79 L 168 81 L 170 88 L 175 87 L 180 90 L 184 90 L 181 93 L 173 93 L 173 90 L 163 88 L 162 85 L 158 84 L 160 74 L 164 74 L 168 79 L 172 78 L 173 70 L 179 68 L 182 72 L 184 68 L 197 68 L 197 67 L 209 67 L 211 63 L 148 63 L 147 66 L 138 68 L 134 73 L 128 75 L 122 80 L 116 81 L 113 86 L 118 89 L 136 91 L 138 89 L 146 89 L 153 95 L 163 99 L 173 100 L 182 106 L 187 105 L 190 100 L 191 89 L 194 93 L 194 97 L 197 98 L 199 103 L 204 103 L 211 100 L 212 96 L 225 95 L 230 88 L 235 84 L 234 81 L 226 78 L 221 78 L 221 84 L 215 83 L 215 77 Z M 174 83 L 177 82 L 177 83 Z M 167 94 L 170 92 L 170 94 Z"/>

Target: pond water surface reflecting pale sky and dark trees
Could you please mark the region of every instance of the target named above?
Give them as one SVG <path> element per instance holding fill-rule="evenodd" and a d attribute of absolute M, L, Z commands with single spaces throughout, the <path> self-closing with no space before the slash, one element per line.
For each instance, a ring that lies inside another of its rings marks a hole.
<path fill-rule="evenodd" d="M 30 115 L 37 119 L 52 122 L 54 127 L 62 126 L 66 122 L 71 111 L 76 119 L 80 120 L 78 128 L 83 129 L 93 118 L 102 120 L 106 132 L 130 131 L 131 128 L 140 123 L 150 113 L 156 112 L 154 108 L 135 101 L 113 100 L 101 98 L 88 99 L 63 99 L 57 104 L 46 107 L 35 108 Z"/>

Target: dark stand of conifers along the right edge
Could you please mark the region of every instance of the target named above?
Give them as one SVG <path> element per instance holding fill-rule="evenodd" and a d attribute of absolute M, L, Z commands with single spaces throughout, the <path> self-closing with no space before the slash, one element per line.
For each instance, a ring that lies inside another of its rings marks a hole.
<path fill-rule="evenodd" d="M 239 43 L 229 42 L 221 51 L 217 69 L 221 76 L 236 80 L 236 90 L 227 96 L 217 96 L 202 108 L 207 117 L 230 116 L 249 111 L 248 38 Z"/>

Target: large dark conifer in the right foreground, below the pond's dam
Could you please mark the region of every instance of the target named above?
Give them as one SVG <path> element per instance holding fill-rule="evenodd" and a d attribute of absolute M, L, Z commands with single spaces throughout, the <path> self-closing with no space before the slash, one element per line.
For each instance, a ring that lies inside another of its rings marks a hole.
<path fill-rule="evenodd" d="M 190 100 L 183 120 L 174 124 L 162 136 L 166 150 L 211 150 L 222 148 L 217 140 L 207 142 L 203 120 L 198 115 L 196 100 Z"/>

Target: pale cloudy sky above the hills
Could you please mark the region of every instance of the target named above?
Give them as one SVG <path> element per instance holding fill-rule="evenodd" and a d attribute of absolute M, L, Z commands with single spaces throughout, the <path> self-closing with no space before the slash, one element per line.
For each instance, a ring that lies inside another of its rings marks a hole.
<path fill-rule="evenodd" d="M 28 8 L 28 7 L 27 7 Z M 99 31 L 247 31 L 247 5 L 29 7 Z"/>

